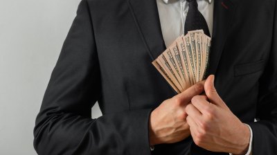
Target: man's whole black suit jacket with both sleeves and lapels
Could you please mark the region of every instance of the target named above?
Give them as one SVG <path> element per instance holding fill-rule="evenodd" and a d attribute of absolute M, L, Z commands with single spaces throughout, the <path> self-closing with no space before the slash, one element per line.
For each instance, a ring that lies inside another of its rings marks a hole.
<path fill-rule="evenodd" d="M 277 154 L 276 8 L 215 0 L 209 73 L 253 129 L 254 155 Z M 191 137 L 150 152 L 150 113 L 176 94 L 151 64 L 165 49 L 156 0 L 82 0 L 37 116 L 37 153 L 216 154 Z M 91 119 L 96 101 L 103 116 Z"/>

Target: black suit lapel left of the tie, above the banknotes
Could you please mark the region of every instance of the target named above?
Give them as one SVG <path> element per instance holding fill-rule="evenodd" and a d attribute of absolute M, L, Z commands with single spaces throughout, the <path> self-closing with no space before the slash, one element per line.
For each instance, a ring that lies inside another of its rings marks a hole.
<path fill-rule="evenodd" d="M 128 0 L 128 5 L 153 61 L 166 50 L 161 33 L 157 2 L 156 0 Z"/>

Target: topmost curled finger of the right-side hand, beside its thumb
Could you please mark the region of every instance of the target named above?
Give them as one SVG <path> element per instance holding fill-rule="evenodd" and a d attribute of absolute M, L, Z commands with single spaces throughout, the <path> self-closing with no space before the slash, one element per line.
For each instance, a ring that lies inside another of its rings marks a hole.
<path fill-rule="evenodd" d="M 204 95 L 195 95 L 195 97 L 191 99 L 191 103 L 200 111 L 200 113 L 204 113 L 205 110 L 208 109 L 208 106 L 213 106 L 213 104 L 208 102 L 208 98 Z"/>

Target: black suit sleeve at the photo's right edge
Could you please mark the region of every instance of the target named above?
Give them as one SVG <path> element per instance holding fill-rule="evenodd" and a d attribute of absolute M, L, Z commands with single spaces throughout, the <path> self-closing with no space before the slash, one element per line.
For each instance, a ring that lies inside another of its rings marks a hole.
<path fill-rule="evenodd" d="M 274 1 L 277 3 L 276 1 Z M 277 5 L 277 4 L 276 4 Z M 256 118 L 248 123 L 253 131 L 253 155 L 277 154 L 277 6 L 269 61 L 260 78 Z"/>

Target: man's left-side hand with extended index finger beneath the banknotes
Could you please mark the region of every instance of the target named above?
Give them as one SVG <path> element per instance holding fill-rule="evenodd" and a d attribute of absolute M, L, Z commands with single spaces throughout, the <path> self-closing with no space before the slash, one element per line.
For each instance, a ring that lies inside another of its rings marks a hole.
<path fill-rule="evenodd" d="M 190 136 L 186 122 L 186 105 L 193 96 L 203 91 L 204 82 L 199 82 L 173 98 L 163 101 L 152 111 L 149 121 L 150 145 L 176 143 Z"/>

